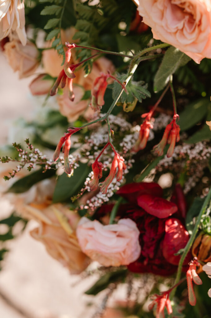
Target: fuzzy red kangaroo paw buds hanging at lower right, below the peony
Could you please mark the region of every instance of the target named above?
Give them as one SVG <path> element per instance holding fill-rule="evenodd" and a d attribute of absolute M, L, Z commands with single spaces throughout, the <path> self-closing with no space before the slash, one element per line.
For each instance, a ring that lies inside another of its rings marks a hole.
<path fill-rule="evenodd" d="M 196 297 L 195 297 L 192 281 L 194 281 L 196 285 L 202 284 L 201 278 L 196 273 L 196 266 L 200 266 L 200 263 L 198 262 L 197 257 L 195 257 L 189 263 L 189 268 L 186 273 L 187 283 L 188 283 L 188 299 L 191 306 L 195 306 L 196 304 Z"/>

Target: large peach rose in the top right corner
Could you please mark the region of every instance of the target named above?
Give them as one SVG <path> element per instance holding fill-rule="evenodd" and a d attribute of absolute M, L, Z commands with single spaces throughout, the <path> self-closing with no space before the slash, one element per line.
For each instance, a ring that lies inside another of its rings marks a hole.
<path fill-rule="evenodd" d="M 139 0 L 137 10 L 155 39 L 175 46 L 198 64 L 211 58 L 210 0 Z"/>

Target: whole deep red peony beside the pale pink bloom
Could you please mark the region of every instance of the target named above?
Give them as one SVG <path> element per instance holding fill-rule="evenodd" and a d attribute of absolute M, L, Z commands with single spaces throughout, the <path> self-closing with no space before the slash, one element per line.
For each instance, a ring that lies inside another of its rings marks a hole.
<path fill-rule="evenodd" d="M 181 190 L 181 189 L 180 189 Z M 182 224 L 178 209 L 184 195 L 174 196 L 174 202 L 162 198 L 162 188 L 154 182 L 130 183 L 120 188 L 118 195 L 129 201 L 121 204 L 118 211 L 120 218 L 131 218 L 137 225 L 142 248 L 140 257 L 128 265 L 131 272 L 171 275 L 176 272 L 180 256 L 174 254 L 184 248 L 189 239 Z M 185 206 L 185 203 L 183 204 Z M 104 206 L 99 213 L 111 211 L 112 206 Z M 172 217 L 171 217 L 172 216 Z M 175 216 L 177 218 L 175 218 Z M 185 259 L 188 264 L 191 257 Z"/>

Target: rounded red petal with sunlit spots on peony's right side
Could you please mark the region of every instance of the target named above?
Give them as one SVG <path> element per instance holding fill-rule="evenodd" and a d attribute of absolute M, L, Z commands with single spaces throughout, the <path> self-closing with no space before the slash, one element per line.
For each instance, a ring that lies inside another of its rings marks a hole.
<path fill-rule="evenodd" d="M 165 236 L 163 240 L 163 256 L 173 264 L 178 265 L 181 255 L 175 256 L 181 248 L 184 248 L 188 242 L 189 234 L 185 230 L 184 225 L 176 218 L 170 218 L 165 222 Z M 186 257 L 184 264 L 190 261 L 190 257 Z"/>

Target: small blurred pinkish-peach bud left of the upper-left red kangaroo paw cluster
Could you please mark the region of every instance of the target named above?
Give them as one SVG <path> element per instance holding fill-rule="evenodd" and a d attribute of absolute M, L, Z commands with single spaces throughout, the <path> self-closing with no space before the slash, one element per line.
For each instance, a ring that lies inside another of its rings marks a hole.
<path fill-rule="evenodd" d="M 29 85 L 32 95 L 43 95 L 49 93 L 49 90 L 54 84 L 53 79 L 47 78 L 48 74 L 38 75 Z"/>

